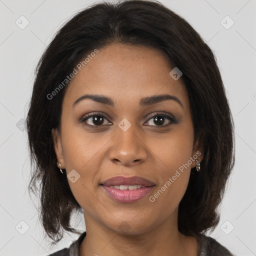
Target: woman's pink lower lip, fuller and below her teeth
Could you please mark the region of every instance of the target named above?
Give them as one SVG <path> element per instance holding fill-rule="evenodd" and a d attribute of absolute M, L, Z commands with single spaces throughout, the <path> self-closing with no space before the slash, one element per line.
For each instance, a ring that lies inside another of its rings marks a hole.
<path fill-rule="evenodd" d="M 134 190 L 120 190 L 104 185 L 102 187 L 111 198 L 118 202 L 134 202 L 147 195 L 154 186 L 146 186 Z"/>

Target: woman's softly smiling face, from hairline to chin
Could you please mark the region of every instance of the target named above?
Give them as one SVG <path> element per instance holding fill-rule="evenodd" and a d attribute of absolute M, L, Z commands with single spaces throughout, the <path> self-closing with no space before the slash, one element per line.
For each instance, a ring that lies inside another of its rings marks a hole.
<path fill-rule="evenodd" d="M 197 141 L 193 148 L 182 76 L 170 76 L 173 67 L 160 51 L 118 43 L 98 49 L 79 67 L 63 98 L 61 132 L 53 130 L 53 135 L 57 159 L 83 208 L 86 227 L 90 219 L 104 228 L 135 234 L 166 221 L 176 225 L 194 156 L 201 152 Z M 109 100 L 83 98 L 74 103 L 84 94 Z M 177 100 L 149 100 L 165 94 Z M 139 176 L 154 185 L 125 191 L 101 185 L 115 176 Z M 147 194 L 135 200 L 143 191 Z M 124 193 L 130 200 L 125 201 Z"/>

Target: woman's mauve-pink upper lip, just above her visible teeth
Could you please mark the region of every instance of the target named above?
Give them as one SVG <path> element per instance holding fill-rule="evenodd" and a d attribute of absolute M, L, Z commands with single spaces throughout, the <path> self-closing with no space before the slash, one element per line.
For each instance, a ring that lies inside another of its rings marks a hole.
<path fill-rule="evenodd" d="M 112 186 L 112 185 L 143 185 L 143 186 L 152 186 L 154 182 L 148 180 L 146 178 L 132 176 L 132 177 L 124 177 L 124 176 L 115 176 L 108 178 L 101 182 L 101 184 L 105 186 Z"/>

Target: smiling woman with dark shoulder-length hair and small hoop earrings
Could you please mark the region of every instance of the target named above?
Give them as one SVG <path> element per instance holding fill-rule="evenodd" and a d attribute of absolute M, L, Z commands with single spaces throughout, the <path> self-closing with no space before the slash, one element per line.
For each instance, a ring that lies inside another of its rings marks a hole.
<path fill-rule="evenodd" d="M 55 35 L 26 119 L 52 255 L 232 255 L 205 235 L 234 164 L 214 55 L 156 1 L 97 3 Z M 69 225 L 82 211 L 86 232 Z"/>

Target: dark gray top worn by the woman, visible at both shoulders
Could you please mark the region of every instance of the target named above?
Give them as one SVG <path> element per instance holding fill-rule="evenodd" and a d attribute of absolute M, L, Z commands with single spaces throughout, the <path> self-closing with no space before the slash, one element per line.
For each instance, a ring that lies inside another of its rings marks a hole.
<path fill-rule="evenodd" d="M 68 248 L 58 250 L 48 256 L 79 256 L 79 246 L 86 235 L 86 231 L 83 232 L 77 240 Z M 224 246 L 218 243 L 215 239 L 202 235 L 202 243 L 200 248 L 200 256 L 234 256 Z"/>

